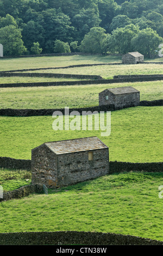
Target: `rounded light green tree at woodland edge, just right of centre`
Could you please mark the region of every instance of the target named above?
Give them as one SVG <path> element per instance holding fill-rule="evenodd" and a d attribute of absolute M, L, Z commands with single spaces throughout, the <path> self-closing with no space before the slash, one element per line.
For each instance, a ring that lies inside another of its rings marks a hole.
<path fill-rule="evenodd" d="M 106 40 L 105 29 L 101 27 L 93 27 L 90 32 L 84 36 L 79 46 L 80 52 L 99 53 L 102 54 L 104 49 L 104 40 Z"/>

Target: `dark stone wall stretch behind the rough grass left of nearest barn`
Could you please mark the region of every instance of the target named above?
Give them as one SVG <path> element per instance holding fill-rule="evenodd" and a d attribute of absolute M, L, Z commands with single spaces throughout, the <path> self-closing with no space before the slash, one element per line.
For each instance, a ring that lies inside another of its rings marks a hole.
<path fill-rule="evenodd" d="M 31 160 L 12 159 L 10 157 L 0 157 L 0 168 L 30 170 Z"/>

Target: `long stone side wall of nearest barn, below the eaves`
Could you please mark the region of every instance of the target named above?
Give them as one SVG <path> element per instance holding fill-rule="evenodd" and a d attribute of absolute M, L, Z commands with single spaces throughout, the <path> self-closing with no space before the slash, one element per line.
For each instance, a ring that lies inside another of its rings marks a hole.
<path fill-rule="evenodd" d="M 88 160 L 90 151 L 58 155 L 58 186 L 95 179 L 109 173 L 109 149 L 93 150 L 93 160 Z"/>

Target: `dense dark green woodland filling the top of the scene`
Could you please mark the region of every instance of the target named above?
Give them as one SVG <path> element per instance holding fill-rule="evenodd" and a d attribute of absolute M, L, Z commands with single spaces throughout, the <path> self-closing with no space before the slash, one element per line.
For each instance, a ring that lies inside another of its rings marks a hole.
<path fill-rule="evenodd" d="M 163 0 L 0 0 L 4 55 L 140 51 L 163 43 Z M 160 50 L 161 51 L 161 50 Z"/>

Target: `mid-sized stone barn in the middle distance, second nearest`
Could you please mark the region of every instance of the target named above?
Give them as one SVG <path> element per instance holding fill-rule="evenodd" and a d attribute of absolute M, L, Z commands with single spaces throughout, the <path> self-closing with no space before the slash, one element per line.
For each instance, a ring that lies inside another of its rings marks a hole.
<path fill-rule="evenodd" d="M 109 88 L 99 93 L 99 106 L 114 104 L 115 109 L 140 105 L 140 92 L 131 86 Z"/>

